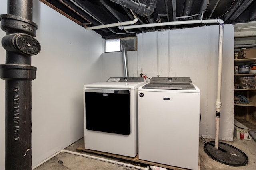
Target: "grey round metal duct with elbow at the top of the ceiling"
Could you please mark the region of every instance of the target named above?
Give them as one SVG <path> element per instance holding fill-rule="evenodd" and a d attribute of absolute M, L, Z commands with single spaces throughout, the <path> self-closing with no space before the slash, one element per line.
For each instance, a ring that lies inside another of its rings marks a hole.
<path fill-rule="evenodd" d="M 151 15 L 156 8 L 156 0 L 147 0 L 146 2 L 147 6 L 145 4 L 137 3 L 132 0 L 110 0 L 110 1 L 115 2 L 126 8 L 129 8 L 141 16 Z"/>

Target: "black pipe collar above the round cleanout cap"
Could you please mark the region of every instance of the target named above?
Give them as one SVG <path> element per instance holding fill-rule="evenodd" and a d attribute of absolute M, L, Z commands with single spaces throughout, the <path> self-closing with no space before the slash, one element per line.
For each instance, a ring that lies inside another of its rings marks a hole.
<path fill-rule="evenodd" d="M 8 33 L 26 33 L 32 37 L 36 37 L 36 23 L 11 14 L 1 14 L 1 29 Z"/>

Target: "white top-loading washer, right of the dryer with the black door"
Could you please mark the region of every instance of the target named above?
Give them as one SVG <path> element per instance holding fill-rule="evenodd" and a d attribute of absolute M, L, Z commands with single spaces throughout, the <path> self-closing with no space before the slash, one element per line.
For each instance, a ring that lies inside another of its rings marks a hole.
<path fill-rule="evenodd" d="M 198 170 L 199 123 L 189 77 L 152 77 L 138 89 L 139 159 Z"/>

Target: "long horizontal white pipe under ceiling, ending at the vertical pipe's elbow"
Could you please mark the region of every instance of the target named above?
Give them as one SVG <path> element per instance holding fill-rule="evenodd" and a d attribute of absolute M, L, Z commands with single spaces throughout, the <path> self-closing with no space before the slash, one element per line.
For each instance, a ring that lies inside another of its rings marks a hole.
<path fill-rule="evenodd" d="M 145 28 L 145 27 L 158 27 L 158 26 L 168 26 L 168 25 L 186 25 L 186 24 L 196 24 L 196 23 L 224 23 L 221 19 L 211 19 L 211 20 L 189 20 L 189 21 L 173 21 L 173 22 L 161 22 L 161 23 L 148 23 L 142 25 L 129 25 L 129 26 L 119 26 L 119 29 L 134 29 L 134 28 Z"/>

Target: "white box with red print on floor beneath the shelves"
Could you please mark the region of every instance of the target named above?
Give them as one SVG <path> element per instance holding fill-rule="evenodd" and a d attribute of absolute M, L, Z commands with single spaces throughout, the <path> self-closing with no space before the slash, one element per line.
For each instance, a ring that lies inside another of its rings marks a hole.
<path fill-rule="evenodd" d="M 250 129 L 248 127 L 246 127 L 236 119 L 234 120 L 234 136 L 237 139 L 252 141 L 252 137 L 248 133 L 249 130 Z"/>

